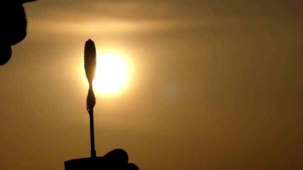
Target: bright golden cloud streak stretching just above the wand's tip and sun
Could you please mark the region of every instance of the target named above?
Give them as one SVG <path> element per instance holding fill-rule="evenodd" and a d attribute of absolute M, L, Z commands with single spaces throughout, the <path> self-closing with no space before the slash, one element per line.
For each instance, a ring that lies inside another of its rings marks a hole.
<path fill-rule="evenodd" d="M 199 25 L 194 21 L 155 21 L 155 20 L 118 20 L 96 19 L 78 21 L 32 20 L 34 31 L 48 31 L 67 34 L 108 34 L 140 33 L 163 29 L 186 28 Z"/>

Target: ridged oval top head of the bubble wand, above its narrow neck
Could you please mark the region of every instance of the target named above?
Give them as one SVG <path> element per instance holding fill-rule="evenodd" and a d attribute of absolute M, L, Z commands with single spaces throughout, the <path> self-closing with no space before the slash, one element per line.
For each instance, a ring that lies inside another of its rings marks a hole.
<path fill-rule="evenodd" d="M 88 83 L 91 84 L 96 73 L 96 47 L 94 41 L 91 39 L 85 42 L 84 69 Z"/>

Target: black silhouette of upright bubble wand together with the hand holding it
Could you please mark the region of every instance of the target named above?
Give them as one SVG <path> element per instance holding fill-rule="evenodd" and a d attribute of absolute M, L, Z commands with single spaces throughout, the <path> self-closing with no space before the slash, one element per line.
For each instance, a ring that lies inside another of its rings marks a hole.
<path fill-rule="evenodd" d="M 84 69 L 89 83 L 86 109 L 90 115 L 91 157 L 65 161 L 65 170 L 139 170 L 135 164 L 128 163 L 128 154 L 122 149 L 115 149 L 104 157 L 96 156 L 93 119 L 94 106 L 96 104 L 93 91 L 93 80 L 96 72 L 96 47 L 91 39 L 87 40 L 84 46 Z"/>

